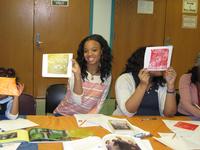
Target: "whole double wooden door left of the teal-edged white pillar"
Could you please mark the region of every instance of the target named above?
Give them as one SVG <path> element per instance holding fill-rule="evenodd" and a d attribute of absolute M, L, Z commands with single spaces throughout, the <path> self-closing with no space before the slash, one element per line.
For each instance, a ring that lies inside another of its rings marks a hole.
<path fill-rule="evenodd" d="M 42 78 L 42 54 L 76 54 L 89 33 L 89 11 L 90 0 L 70 0 L 68 7 L 51 6 L 51 0 L 0 1 L 0 66 L 16 69 L 26 93 L 44 97 L 50 84 L 67 80 Z"/>

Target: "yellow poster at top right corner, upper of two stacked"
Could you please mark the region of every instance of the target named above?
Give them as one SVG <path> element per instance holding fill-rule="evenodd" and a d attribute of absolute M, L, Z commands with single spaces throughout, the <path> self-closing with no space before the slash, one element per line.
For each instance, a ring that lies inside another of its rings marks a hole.
<path fill-rule="evenodd" d="M 183 0 L 183 13 L 197 13 L 198 0 Z"/>

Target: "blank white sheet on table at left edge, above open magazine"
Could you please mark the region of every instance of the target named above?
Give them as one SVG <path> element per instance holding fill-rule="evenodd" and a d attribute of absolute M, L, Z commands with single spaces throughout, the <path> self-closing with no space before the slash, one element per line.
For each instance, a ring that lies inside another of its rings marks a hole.
<path fill-rule="evenodd" d="M 2 120 L 0 121 L 0 130 L 2 131 L 10 131 L 23 129 L 28 127 L 38 126 L 38 124 L 23 118 L 18 118 L 16 120 Z"/>

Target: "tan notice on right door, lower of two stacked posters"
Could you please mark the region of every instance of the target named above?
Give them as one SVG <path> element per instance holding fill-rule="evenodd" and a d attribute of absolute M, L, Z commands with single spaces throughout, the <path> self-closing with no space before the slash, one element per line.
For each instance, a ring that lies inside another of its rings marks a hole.
<path fill-rule="evenodd" d="M 197 28 L 197 16 L 183 15 L 182 17 L 182 28 Z"/>

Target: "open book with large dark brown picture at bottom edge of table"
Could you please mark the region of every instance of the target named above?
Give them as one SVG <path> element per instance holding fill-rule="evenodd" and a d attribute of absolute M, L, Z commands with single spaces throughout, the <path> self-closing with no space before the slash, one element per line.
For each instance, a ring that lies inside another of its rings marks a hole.
<path fill-rule="evenodd" d="M 128 135 L 107 134 L 103 138 L 90 136 L 80 140 L 63 142 L 64 150 L 153 150 L 148 140 L 141 140 Z"/>

